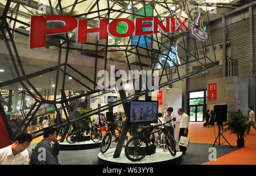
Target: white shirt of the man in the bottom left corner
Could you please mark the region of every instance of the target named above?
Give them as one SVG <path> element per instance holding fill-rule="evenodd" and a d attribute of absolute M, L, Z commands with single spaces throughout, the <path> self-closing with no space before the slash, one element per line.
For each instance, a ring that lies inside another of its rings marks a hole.
<path fill-rule="evenodd" d="M 0 165 L 28 165 L 29 155 L 27 149 L 13 155 L 11 145 L 0 149 Z"/>

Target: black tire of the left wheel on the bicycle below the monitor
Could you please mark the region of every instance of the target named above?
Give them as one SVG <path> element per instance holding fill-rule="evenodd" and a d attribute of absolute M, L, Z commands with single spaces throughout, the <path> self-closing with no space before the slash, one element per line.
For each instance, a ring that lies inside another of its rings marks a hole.
<path fill-rule="evenodd" d="M 139 146 L 138 147 L 134 146 L 134 143 L 137 143 L 137 142 L 135 142 L 135 140 L 139 140 Z M 143 143 L 146 145 L 146 151 L 142 151 L 142 148 L 140 149 L 140 147 L 143 145 Z M 129 154 L 129 151 L 130 151 L 129 144 L 132 144 L 131 147 L 133 147 L 133 149 L 132 149 L 133 150 L 133 157 L 130 157 L 131 154 Z M 131 138 L 130 140 L 127 141 L 127 143 L 125 145 L 125 156 L 130 161 L 141 161 L 147 155 L 147 151 L 148 151 L 148 143 L 145 140 L 145 138 L 142 138 L 140 136 L 135 137 L 135 138 Z M 134 155 L 134 152 L 135 152 L 135 155 Z M 137 158 L 134 158 L 134 156 L 137 157 Z"/>

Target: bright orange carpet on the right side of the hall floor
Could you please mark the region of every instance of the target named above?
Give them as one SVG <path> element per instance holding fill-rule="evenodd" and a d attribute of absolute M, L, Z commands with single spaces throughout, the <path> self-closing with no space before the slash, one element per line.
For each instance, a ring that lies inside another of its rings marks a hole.
<path fill-rule="evenodd" d="M 203 127 L 203 122 L 190 122 L 189 123 L 189 138 L 193 143 L 208 143 L 213 144 L 216 139 L 218 127 Z M 237 145 L 237 136 L 234 134 L 224 133 L 224 137 L 229 141 L 231 145 Z M 221 143 L 223 142 L 221 137 Z M 228 143 L 224 143 L 225 145 Z M 218 151 L 217 151 L 218 152 Z M 256 131 L 251 128 L 250 134 L 245 136 L 245 147 L 237 149 L 234 152 L 225 154 L 217 158 L 217 161 L 209 161 L 207 165 L 217 164 L 252 164 L 256 165 Z"/>

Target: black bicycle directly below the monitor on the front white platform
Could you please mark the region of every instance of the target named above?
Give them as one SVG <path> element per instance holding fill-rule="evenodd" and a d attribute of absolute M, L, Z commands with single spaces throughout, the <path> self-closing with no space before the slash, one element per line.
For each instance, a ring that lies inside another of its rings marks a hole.
<path fill-rule="evenodd" d="M 166 123 L 170 123 L 173 119 Z M 155 149 L 159 144 L 165 143 L 165 148 L 172 154 L 176 155 L 176 144 L 174 136 L 167 130 L 166 123 L 155 125 L 155 126 L 143 126 L 144 136 L 138 136 L 131 138 L 125 145 L 125 156 L 130 161 L 140 161 L 146 155 L 155 153 Z M 150 131 L 150 132 L 147 132 Z M 158 133 L 158 137 L 154 139 L 155 134 Z M 161 141 L 162 133 L 163 142 Z M 163 148 L 164 149 L 164 148 Z"/>

